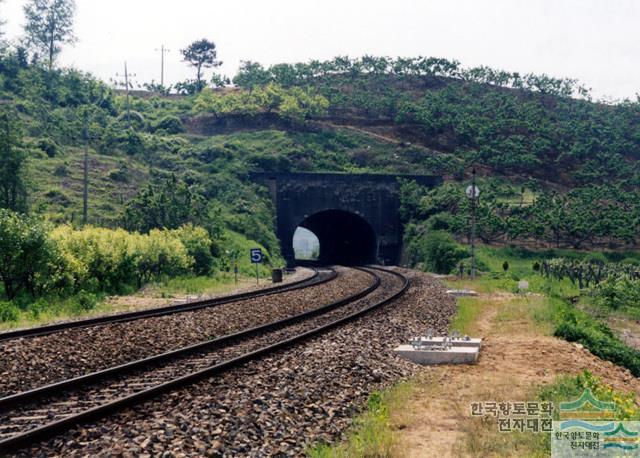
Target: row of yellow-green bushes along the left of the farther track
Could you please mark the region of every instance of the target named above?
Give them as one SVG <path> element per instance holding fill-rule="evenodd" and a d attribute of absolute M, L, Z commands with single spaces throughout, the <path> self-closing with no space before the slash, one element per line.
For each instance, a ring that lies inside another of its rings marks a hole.
<path fill-rule="evenodd" d="M 229 249 L 222 254 L 220 246 Z M 191 224 L 145 234 L 88 226 L 51 229 L 36 217 L 0 210 L 0 281 L 12 301 L 2 302 L 0 320 L 17 320 L 17 312 L 32 307 L 39 315 L 48 302 L 89 311 L 98 302 L 95 295 L 131 292 L 170 277 L 206 277 L 235 262 L 241 272 L 253 274 L 240 256 L 250 246 L 231 232 L 214 243 L 209 232 Z"/>

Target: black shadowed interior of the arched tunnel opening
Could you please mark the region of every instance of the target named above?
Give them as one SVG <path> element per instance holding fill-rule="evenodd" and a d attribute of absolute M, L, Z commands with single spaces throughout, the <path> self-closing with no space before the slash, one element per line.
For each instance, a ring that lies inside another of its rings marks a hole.
<path fill-rule="evenodd" d="M 300 227 L 313 232 L 320 243 L 318 259 L 327 264 L 367 264 L 377 257 L 377 238 L 361 216 L 343 210 L 325 210 L 307 217 Z"/>

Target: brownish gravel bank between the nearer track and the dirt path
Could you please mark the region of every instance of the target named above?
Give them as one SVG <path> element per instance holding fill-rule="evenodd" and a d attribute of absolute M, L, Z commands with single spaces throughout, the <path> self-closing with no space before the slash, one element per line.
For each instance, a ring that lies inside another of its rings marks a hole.
<path fill-rule="evenodd" d="M 444 332 L 455 311 L 437 280 L 407 273 L 405 296 L 354 323 L 21 456 L 300 456 L 338 440 L 373 390 L 418 370 L 392 349 L 427 327 Z"/>

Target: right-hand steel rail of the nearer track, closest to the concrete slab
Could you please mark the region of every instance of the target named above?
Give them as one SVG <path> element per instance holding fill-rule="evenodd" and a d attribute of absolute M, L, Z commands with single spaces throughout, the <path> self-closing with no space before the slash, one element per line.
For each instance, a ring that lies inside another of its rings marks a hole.
<path fill-rule="evenodd" d="M 55 435 L 56 433 L 60 433 L 63 431 L 66 431 L 67 429 L 69 429 L 70 427 L 73 427 L 79 423 L 83 423 L 83 422 L 88 422 L 88 421 L 92 421 L 92 420 L 96 420 L 98 418 L 102 418 L 105 415 L 108 415 L 110 413 L 113 413 L 115 411 L 118 411 L 122 408 L 128 407 L 128 406 L 133 406 L 136 404 L 139 404 L 143 401 L 146 401 L 148 399 L 151 399 L 153 397 L 156 397 L 160 394 L 169 392 L 169 391 L 173 391 L 176 390 L 178 388 L 193 384 L 199 380 L 202 380 L 204 378 L 207 377 L 211 377 L 213 375 L 219 375 L 221 373 L 224 373 L 226 371 L 229 371 L 233 368 L 239 367 L 249 361 L 252 360 L 256 360 L 259 359 L 263 356 L 266 356 L 268 354 L 274 353 L 278 350 L 287 348 L 292 346 L 293 344 L 296 344 L 298 342 L 301 342 L 303 340 L 309 339 L 311 337 L 315 337 L 318 336 L 326 331 L 329 331 L 333 328 L 336 328 L 338 326 L 344 325 L 346 323 L 349 323 L 351 321 L 354 321 L 364 315 L 366 315 L 367 313 L 378 309 L 386 304 L 389 304 L 390 302 L 396 300 L 397 298 L 399 298 L 400 296 L 402 296 L 407 289 L 409 288 L 409 281 L 408 279 L 395 271 L 392 270 L 387 270 L 387 269 L 382 269 L 379 267 L 369 267 L 368 269 L 362 269 L 365 271 L 368 270 L 378 270 L 381 272 L 385 272 L 391 275 L 396 276 L 397 278 L 399 278 L 402 281 L 402 286 L 400 289 L 398 289 L 397 291 L 395 291 L 393 294 L 387 296 L 386 298 L 375 302 L 372 305 L 369 305 L 365 308 L 362 308 L 360 310 L 357 310 L 353 313 L 350 313 L 349 315 L 342 317 L 342 318 L 338 318 L 334 321 L 331 321 L 327 324 L 321 325 L 317 328 L 311 329 L 309 331 L 305 331 L 301 334 L 298 334 L 296 336 L 290 337 L 290 338 L 286 338 L 283 339 L 279 342 L 276 342 L 274 344 L 270 344 L 267 345 L 265 347 L 262 347 L 260 349 L 254 350 L 254 351 L 250 351 L 248 353 L 245 353 L 243 355 L 228 359 L 226 361 L 223 361 L 221 363 L 215 364 L 211 367 L 202 369 L 202 370 L 198 370 L 196 372 L 192 372 L 190 374 L 187 375 L 183 375 L 181 377 L 175 378 L 173 380 L 158 384 L 156 386 L 153 386 L 151 388 L 145 389 L 143 391 L 137 392 L 137 393 L 133 393 L 131 395 L 107 402 L 105 404 L 102 404 L 100 406 L 88 409 L 84 412 L 78 413 L 78 414 L 74 414 L 74 415 L 70 415 L 66 418 L 63 418 L 61 420 L 57 420 L 54 421 L 52 423 L 46 424 L 44 426 L 40 426 L 40 427 L 36 427 L 34 429 L 31 429 L 29 431 L 23 432 L 23 433 L 18 433 L 14 436 L 11 436 L 7 439 L 4 440 L 0 440 L 0 454 L 6 454 L 9 453 L 11 451 L 15 451 L 18 450 L 21 447 L 24 446 L 28 446 L 30 444 L 32 444 L 35 441 L 38 440 L 42 440 L 45 439 L 47 437 L 51 437 L 52 435 Z M 376 275 L 377 276 L 377 275 Z M 378 280 L 380 280 L 380 277 L 378 277 Z"/>

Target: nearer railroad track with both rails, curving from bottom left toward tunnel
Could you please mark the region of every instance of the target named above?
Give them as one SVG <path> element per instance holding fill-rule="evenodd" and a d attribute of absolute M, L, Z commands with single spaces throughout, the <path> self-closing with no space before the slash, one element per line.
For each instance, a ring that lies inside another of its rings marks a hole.
<path fill-rule="evenodd" d="M 340 301 L 0 399 L 0 454 L 292 346 L 388 304 L 408 288 L 408 280 L 397 272 L 359 270 L 368 273 L 372 282 Z"/>

